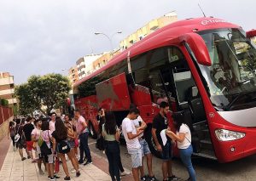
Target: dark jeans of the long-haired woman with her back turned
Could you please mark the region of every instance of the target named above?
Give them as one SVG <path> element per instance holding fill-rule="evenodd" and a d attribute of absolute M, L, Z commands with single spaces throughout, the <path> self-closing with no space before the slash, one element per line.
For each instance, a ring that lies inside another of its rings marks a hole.
<path fill-rule="evenodd" d="M 120 180 L 119 173 L 119 143 L 116 141 L 107 141 L 106 155 L 108 157 L 108 170 L 112 180 Z"/>

